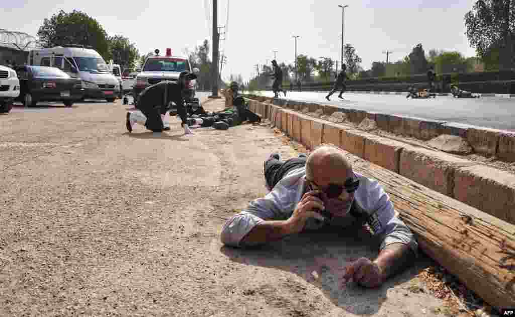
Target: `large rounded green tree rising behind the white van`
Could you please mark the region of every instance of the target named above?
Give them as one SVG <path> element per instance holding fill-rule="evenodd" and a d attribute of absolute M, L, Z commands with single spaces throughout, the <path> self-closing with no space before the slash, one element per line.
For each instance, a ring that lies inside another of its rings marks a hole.
<path fill-rule="evenodd" d="M 79 44 L 92 46 L 104 59 L 109 59 L 109 41 L 104 28 L 88 14 L 63 10 L 45 19 L 38 31 L 39 41 L 44 48 Z"/>

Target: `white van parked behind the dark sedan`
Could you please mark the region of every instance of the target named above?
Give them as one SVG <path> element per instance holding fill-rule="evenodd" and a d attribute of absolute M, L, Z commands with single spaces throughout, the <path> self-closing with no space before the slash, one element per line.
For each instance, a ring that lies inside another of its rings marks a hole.
<path fill-rule="evenodd" d="M 120 92 L 119 82 L 106 61 L 94 49 L 82 45 L 33 49 L 29 53 L 28 64 L 57 67 L 72 77 L 82 79 L 84 98 L 113 102 Z"/>

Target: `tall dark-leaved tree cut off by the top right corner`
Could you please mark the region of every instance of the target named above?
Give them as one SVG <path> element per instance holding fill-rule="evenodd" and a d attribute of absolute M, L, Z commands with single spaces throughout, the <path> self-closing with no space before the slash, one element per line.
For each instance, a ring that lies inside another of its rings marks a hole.
<path fill-rule="evenodd" d="M 500 69 L 513 67 L 515 39 L 515 1 L 477 0 L 465 14 L 467 37 L 477 56 L 485 60 L 487 68 L 499 62 Z"/>

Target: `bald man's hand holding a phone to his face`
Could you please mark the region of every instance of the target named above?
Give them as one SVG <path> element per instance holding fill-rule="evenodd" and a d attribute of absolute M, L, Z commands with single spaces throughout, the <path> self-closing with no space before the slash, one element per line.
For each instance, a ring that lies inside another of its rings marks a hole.
<path fill-rule="evenodd" d="M 321 199 L 317 197 L 318 194 L 320 194 L 319 191 L 310 191 L 302 196 L 293 214 L 286 222 L 290 234 L 302 231 L 308 218 L 324 220 L 323 216 L 315 211 L 324 210 L 325 208 Z"/>

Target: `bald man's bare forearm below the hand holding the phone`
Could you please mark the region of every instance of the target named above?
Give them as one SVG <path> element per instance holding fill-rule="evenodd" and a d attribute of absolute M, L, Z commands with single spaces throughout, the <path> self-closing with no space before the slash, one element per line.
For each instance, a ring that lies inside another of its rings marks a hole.
<path fill-rule="evenodd" d="M 278 241 L 284 236 L 289 235 L 289 231 L 287 221 L 265 221 L 252 228 L 242 239 L 241 244 L 253 245 Z"/>

